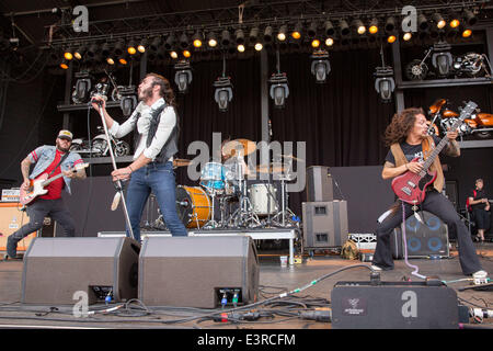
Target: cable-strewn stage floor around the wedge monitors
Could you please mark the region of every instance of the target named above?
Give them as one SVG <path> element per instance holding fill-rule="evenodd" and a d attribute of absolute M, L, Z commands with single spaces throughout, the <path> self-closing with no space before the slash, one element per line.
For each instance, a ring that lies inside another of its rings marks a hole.
<path fill-rule="evenodd" d="M 490 274 L 493 273 L 493 242 L 474 244 L 482 265 Z M 345 260 L 339 254 L 324 252 L 316 254 L 313 258 L 305 257 L 301 263 L 295 265 L 282 267 L 279 263 L 279 253 L 260 251 L 260 301 L 276 296 L 283 292 L 293 291 L 313 280 L 320 279 L 326 274 L 335 272 L 342 268 L 351 265 L 365 264 L 358 260 Z M 280 253 L 286 254 L 286 253 Z M 419 273 L 423 275 L 437 275 L 442 281 L 446 281 L 449 287 L 456 290 L 459 298 L 465 301 L 466 305 L 474 304 L 478 307 L 491 308 L 493 305 L 493 294 L 491 291 L 459 291 L 461 287 L 471 286 L 471 282 L 458 281 L 467 276 L 461 274 L 458 252 L 451 250 L 450 259 L 413 259 L 411 264 L 419 267 Z M 22 282 L 22 260 L 0 261 L 0 328 L 112 328 L 112 329 L 141 329 L 141 328 L 175 328 L 175 329 L 331 329 L 331 322 L 314 321 L 302 319 L 297 314 L 307 310 L 305 306 L 313 308 L 330 308 L 331 291 L 339 281 L 369 281 L 370 271 L 365 267 L 355 267 L 329 276 L 317 284 L 290 295 L 279 302 L 277 306 L 259 306 L 257 308 L 265 314 L 256 321 L 242 322 L 215 322 L 213 320 L 202 320 L 195 318 L 204 316 L 210 312 L 204 309 L 167 309 L 167 310 L 146 310 L 137 303 L 130 304 L 129 308 L 122 307 L 117 313 L 89 316 L 87 318 L 74 317 L 70 307 L 56 308 L 34 308 L 20 304 L 21 282 Z M 411 275 L 413 270 L 409 268 L 403 260 L 395 260 L 395 269 L 381 273 L 381 280 L 385 282 L 399 282 L 403 279 L 411 279 L 413 282 L 422 280 Z M 290 304 L 283 306 L 284 302 Z M 305 306 L 303 306 L 305 304 Z M 110 306 L 117 306 L 115 304 Z M 296 306 L 297 305 L 297 306 Z M 91 309 L 101 308 L 104 305 L 90 306 Z M 282 312 L 278 314 L 270 314 Z M 187 320 L 187 319 L 191 320 Z M 173 322 L 173 320 L 187 320 Z M 481 325 L 493 328 L 493 319 L 486 318 Z M 291 330 L 293 332 L 296 332 Z"/>

